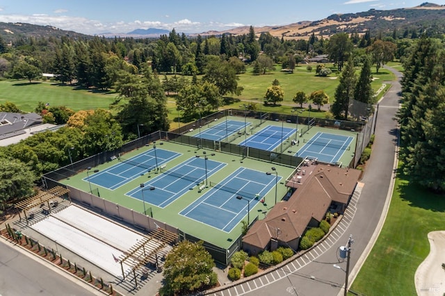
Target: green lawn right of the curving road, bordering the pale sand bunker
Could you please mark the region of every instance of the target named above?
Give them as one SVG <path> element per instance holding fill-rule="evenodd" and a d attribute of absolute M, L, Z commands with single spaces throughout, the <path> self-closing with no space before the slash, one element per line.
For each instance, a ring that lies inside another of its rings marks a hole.
<path fill-rule="evenodd" d="M 444 230 L 445 198 L 396 180 L 391 206 L 351 290 L 359 295 L 416 295 L 414 274 L 428 256 L 430 231 Z M 437 262 L 442 264 L 442 262 Z"/>

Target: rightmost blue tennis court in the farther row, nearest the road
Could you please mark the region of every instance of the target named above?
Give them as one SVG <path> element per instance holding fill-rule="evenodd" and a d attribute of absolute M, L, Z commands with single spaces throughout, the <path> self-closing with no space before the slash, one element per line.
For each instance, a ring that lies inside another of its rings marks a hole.
<path fill-rule="evenodd" d="M 337 163 L 354 138 L 346 135 L 318 132 L 297 152 L 302 158 L 316 158 L 323 163 Z"/>

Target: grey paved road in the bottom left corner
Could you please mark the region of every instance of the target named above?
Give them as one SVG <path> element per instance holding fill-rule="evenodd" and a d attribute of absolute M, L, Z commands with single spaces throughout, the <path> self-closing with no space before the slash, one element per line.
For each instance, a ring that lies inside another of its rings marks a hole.
<path fill-rule="evenodd" d="M 103 295 L 79 285 L 70 275 L 54 271 L 44 261 L 30 258 L 0 238 L 0 295 Z M 31 255 L 33 256 L 33 255 Z M 67 278 L 68 277 L 68 278 Z"/>

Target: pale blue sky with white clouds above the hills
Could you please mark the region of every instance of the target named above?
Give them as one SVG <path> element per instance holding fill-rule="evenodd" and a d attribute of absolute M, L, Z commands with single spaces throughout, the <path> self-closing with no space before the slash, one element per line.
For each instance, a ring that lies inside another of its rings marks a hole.
<path fill-rule="evenodd" d="M 100 35 L 162 28 L 177 33 L 280 26 L 334 13 L 419 6 L 426 0 L 0 0 L 0 22 L 23 22 Z M 445 0 L 430 3 L 445 5 Z"/>

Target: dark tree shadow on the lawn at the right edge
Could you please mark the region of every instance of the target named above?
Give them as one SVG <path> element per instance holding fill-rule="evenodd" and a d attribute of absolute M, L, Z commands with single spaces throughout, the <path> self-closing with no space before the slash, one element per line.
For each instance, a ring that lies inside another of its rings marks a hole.
<path fill-rule="evenodd" d="M 401 182 L 396 190 L 400 192 L 401 199 L 409 202 L 410 206 L 433 212 L 445 211 L 445 194 L 443 193 L 431 192 L 428 188 L 414 182 Z"/>

